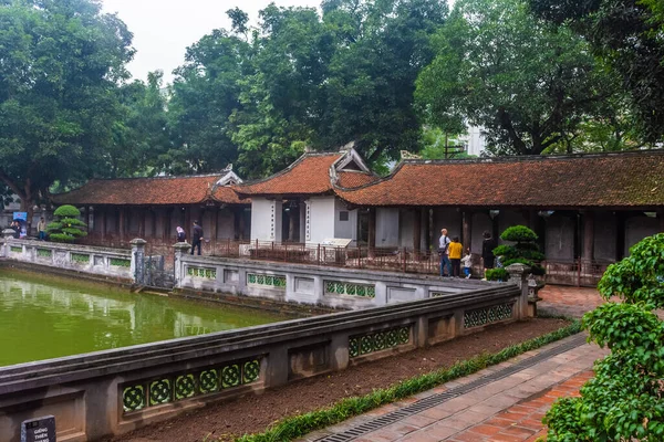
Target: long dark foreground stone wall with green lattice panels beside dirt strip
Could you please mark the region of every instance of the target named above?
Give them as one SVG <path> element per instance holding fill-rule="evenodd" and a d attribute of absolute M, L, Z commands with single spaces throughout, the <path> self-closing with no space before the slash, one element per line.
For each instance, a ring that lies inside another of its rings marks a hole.
<path fill-rule="evenodd" d="M 393 281 L 383 284 L 387 288 Z M 479 290 L 0 368 L 0 440 L 18 442 L 21 421 L 46 414 L 55 417 L 59 441 L 96 440 L 212 401 L 521 319 L 528 315 L 527 284 L 522 287 L 475 287 Z"/>

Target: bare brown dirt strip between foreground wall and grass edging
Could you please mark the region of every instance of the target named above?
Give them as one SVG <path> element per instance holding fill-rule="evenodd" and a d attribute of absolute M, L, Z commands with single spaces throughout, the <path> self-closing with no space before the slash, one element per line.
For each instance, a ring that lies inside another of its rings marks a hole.
<path fill-rule="evenodd" d="M 211 404 L 191 413 L 159 422 L 114 439 L 112 442 L 231 441 L 236 435 L 263 431 L 288 415 L 317 410 L 347 397 L 388 387 L 483 352 L 497 352 L 510 345 L 544 335 L 568 323 L 536 318 L 488 327 L 481 333 L 417 349 L 398 356 L 351 367 L 345 371 L 309 378 L 269 390 Z"/>

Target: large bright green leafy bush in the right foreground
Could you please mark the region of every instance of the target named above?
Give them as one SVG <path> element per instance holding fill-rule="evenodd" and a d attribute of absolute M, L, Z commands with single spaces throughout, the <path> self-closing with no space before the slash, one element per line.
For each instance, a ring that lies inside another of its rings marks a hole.
<path fill-rule="evenodd" d="M 598 285 L 606 301 L 583 316 L 589 340 L 611 354 L 594 365 L 580 398 L 559 399 L 544 417 L 549 442 L 664 441 L 664 233 L 630 249 Z"/>

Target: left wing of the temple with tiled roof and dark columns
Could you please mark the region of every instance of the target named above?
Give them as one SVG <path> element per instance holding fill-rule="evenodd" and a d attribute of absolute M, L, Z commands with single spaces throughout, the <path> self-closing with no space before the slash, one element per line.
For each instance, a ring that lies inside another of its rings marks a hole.
<path fill-rule="evenodd" d="M 191 224 L 198 220 L 214 246 L 249 239 L 250 201 L 240 201 L 231 189 L 241 182 L 230 167 L 189 177 L 93 179 L 53 196 L 53 201 L 82 208 L 89 244 L 126 246 L 132 239 L 143 238 L 153 245 L 170 246 L 176 227 L 191 238 Z"/>

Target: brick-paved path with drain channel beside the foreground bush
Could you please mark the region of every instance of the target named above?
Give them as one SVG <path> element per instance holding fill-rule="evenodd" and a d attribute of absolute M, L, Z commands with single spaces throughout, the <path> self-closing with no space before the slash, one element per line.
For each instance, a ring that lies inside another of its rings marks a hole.
<path fill-rule="evenodd" d="M 367 414 L 351 419 L 323 431 L 309 434 L 302 441 L 335 440 L 342 432 L 372 422 L 377 417 L 417 403 L 433 394 L 467 385 L 542 351 L 578 339 L 578 336 L 529 351 L 498 366 L 489 367 L 475 375 L 447 382 L 439 388 L 417 394 L 407 400 L 382 407 Z M 573 394 L 591 376 L 592 364 L 606 355 L 606 350 L 583 344 L 538 364 L 501 377 L 491 383 L 448 399 L 416 414 L 404 417 L 395 423 L 352 438 L 353 442 L 434 442 L 434 441 L 535 441 L 544 434 L 541 418 L 552 401 Z M 345 433 L 347 434 L 347 433 Z M 347 441 L 349 439 L 338 439 Z"/>

